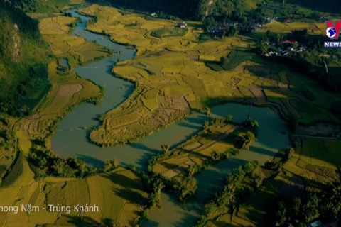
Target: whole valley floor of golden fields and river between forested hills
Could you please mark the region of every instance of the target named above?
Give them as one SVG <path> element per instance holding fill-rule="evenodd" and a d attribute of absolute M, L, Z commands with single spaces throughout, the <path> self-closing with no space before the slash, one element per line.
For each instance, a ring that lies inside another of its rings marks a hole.
<path fill-rule="evenodd" d="M 31 15 L 53 56 L 49 85 L 28 116 L 0 115 L 0 200 L 99 212 L 8 212 L 1 226 L 272 226 L 269 207 L 294 196 L 300 223 L 329 220 L 305 199 L 340 206 L 325 192 L 340 183 L 341 95 L 254 39 L 310 22 L 220 37 L 199 21 L 75 4 Z"/>

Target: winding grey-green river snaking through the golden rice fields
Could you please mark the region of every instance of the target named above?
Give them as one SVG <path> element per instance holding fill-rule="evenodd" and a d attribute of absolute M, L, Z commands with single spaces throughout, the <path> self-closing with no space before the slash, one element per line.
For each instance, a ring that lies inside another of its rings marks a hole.
<path fill-rule="evenodd" d="M 202 123 L 210 117 L 198 113 L 190 115 L 183 121 L 153 133 L 153 135 L 131 145 L 99 148 L 97 145 L 91 144 L 87 140 L 90 131 L 82 128 L 98 126 L 97 116 L 117 107 L 134 89 L 134 84 L 113 77 L 110 74 L 112 65 L 117 62 L 117 58 L 120 60 L 133 58 L 136 51 L 129 50 L 124 45 L 113 43 L 109 38 L 102 35 L 86 32 L 85 23 L 90 18 L 78 14 L 75 10 L 70 11 L 70 13 L 82 20 L 77 23 L 77 28 L 72 35 L 80 33 L 82 38 L 86 40 L 97 40 L 99 45 L 122 53 L 75 68 L 75 72 L 79 73 L 80 77 L 90 79 L 104 87 L 105 99 L 100 102 L 99 106 L 82 104 L 60 121 L 55 136 L 51 141 L 52 149 L 59 157 L 78 157 L 88 165 L 95 167 L 102 166 L 105 159 L 117 157 L 121 165 L 135 165 L 141 170 L 146 170 L 148 159 L 162 152 L 161 144 L 178 145 L 201 130 Z M 121 87 L 127 87 L 127 89 L 121 89 Z M 249 116 L 249 106 L 233 103 L 224 104 L 212 107 L 211 113 L 212 116 L 232 114 L 234 121 L 242 122 Z M 258 135 L 259 140 L 253 143 L 251 149 L 245 150 L 229 160 L 218 162 L 200 172 L 197 175 L 197 193 L 186 204 L 179 204 L 173 195 L 163 192 L 161 194 L 162 209 L 151 211 L 148 216 L 149 220 L 143 226 L 193 226 L 198 214 L 200 214 L 200 204 L 222 186 L 224 178 L 234 168 L 250 160 L 259 160 L 259 162 L 264 163 L 266 160 L 271 160 L 278 150 L 291 145 L 288 138 L 288 126 L 275 111 L 269 108 L 253 107 L 251 118 L 259 121 L 261 126 Z M 282 132 L 286 133 L 283 134 Z"/>

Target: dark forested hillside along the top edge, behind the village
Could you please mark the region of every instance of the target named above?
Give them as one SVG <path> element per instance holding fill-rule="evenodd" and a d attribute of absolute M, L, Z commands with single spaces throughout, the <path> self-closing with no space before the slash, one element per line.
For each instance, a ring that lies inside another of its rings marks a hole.
<path fill-rule="evenodd" d="M 97 2 L 97 0 L 90 0 Z M 102 1 L 101 1 L 102 2 Z M 205 16 L 226 17 L 232 13 L 248 13 L 264 3 L 284 6 L 291 4 L 311 11 L 340 13 L 340 2 L 326 0 L 323 4 L 319 0 L 107 0 L 112 6 L 134 9 L 137 11 L 162 12 L 161 17 L 179 16 L 203 20 Z M 102 2 L 103 3 L 103 2 Z M 278 11 L 281 11 L 278 9 Z M 160 17 L 161 13 L 158 13 Z"/>

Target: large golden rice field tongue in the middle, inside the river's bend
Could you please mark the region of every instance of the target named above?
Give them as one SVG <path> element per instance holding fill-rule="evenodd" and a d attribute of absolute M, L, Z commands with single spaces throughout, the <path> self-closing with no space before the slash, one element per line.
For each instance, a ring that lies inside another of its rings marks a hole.
<path fill-rule="evenodd" d="M 147 20 L 134 13 L 122 15 L 117 9 L 97 4 L 80 12 L 99 18 L 97 23 L 88 26 L 90 31 L 106 33 L 114 42 L 136 45 L 139 50 L 134 60 L 119 62 L 112 69 L 117 77 L 136 82 L 136 95 L 129 98 L 129 106 L 122 104 L 119 107 L 121 111 L 129 109 L 126 119 L 121 117 L 123 114 L 113 110 L 103 117 L 102 126 L 92 131 L 90 138 L 98 145 L 131 143 L 163 128 L 165 125 L 159 127 L 158 123 L 150 122 L 152 115 L 165 114 L 158 111 L 159 109 L 197 110 L 219 100 L 275 105 L 282 109 L 284 117 L 301 116 L 298 121 L 303 123 L 313 123 L 319 119 L 338 122 L 335 116 L 325 111 L 330 108 L 330 103 L 323 100 L 327 96 L 341 100 L 340 95 L 324 92 L 318 83 L 303 75 L 244 52 L 250 46 L 247 38 L 198 42 L 202 31 L 191 27 L 183 36 L 161 35 L 161 38 L 156 38 L 151 33 L 162 31 L 162 34 L 168 34 L 166 29 L 172 31 L 178 21 L 156 18 Z M 280 25 L 277 22 L 269 24 L 274 27 Z M 302 24 L 300 26 L 304 27 Z M 229 55 L 232 50 L 234 57 L 230 60 L 228 70 L 224 70 L 219 65 L 220 57 Z M 313 105 L 320 110 L 318 116 L 288 105 L 289 98 L 306 101 L 298 91 L 307 87 L 316 97 Z M 153 95 L 147 95 L 146 92 L 151 89 L 154 91 Z M 137 111 L 142 106 L 143 111 Z M 186 113 L 180 114 L 175 118 L 167 116 L 163 120 L 171 123 L 179 121 L 185 115 Z M 144 124 L 153 126 L 143 127 Z M 132 128 L 135 130 L 136 126 L 142 126 L 141 130 L 132 133 Z M 123 133 L 118 135 L 117 132 L 120 131 Z"/>

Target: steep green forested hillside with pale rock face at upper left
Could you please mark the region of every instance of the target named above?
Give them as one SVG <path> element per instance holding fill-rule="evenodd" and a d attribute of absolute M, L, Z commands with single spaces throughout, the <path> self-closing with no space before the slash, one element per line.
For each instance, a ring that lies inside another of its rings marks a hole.
<path fill-rule="evenodd" d="M 0 21 L 0 112 L 28 114 L 49 87 L 48 47 L 40 39 L 38 21 L 4 0 Z"/>

